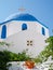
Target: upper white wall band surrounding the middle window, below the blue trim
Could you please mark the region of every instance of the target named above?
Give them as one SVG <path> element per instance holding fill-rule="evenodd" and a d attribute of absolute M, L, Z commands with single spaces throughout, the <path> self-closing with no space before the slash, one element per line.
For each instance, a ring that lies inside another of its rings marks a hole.
<path fill-rule="evenodd" d="M 49 37 L 49 29 L 42 26 L 41 24 L 37 22 L 16 22 L 16 20 L 13 20 L 6 24 L 8 37 L 22 31 L 22 25 L 24 23 L 27 24 L 27 27 L 28 27 L 27 29 L 35 31 L 35 32 L 39 32 L 40 34 L 42 34 L 41 28 L 43 27 L 45 29 L 45 38 Z"/>

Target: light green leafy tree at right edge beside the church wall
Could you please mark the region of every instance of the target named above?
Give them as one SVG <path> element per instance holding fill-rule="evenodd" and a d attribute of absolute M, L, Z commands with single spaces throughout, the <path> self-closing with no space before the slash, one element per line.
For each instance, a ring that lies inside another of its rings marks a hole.
<path fill-rule="evenodd" d="M 53 37 L 50 37 L 45 40 L 49 45 L 47 45 L 45 51 L 48 51 L 49 57 L 52 56 L 53 59 Z"/>

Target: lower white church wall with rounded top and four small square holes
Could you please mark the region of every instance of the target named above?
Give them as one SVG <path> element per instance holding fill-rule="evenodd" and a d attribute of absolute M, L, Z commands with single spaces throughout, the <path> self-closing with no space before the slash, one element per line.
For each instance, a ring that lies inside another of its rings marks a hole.
<path fill-rule="evenodd" d="M 31 30 L 21 31 L 9 37 L 5 41 L 12 44 L 10 47 L 8 47 L 9 51 L 21 53 L 28 48 L 27 54 L 29 54 L 31 57 L 37 56 L 45 46 L 44 38 Z M 32 45 L 27 45 L 27 41 L 32 41 Z"/>

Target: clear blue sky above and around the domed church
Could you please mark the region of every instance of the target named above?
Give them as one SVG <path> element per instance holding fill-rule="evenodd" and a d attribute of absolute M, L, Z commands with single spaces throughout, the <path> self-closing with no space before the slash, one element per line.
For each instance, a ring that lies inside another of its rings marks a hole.
<path fill-rule="evenodd" d="M 22 6 L 48 26 L 50 36 L 53 36 L 53 0 L 0 0 L 0 23 L 11 14 L 18 13 Z"/>

